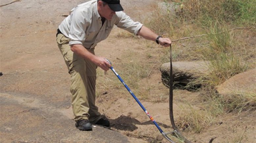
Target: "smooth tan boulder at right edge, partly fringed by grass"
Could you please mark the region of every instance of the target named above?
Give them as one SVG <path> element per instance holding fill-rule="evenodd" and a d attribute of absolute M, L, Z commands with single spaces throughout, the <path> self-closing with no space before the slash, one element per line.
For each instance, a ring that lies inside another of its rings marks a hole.
<path fill-rule="evenodd" d="M 250 94 L 256 93 L 256 69 L 239 73 L 217 87 L 218 93 L 226 94 Z"/>

